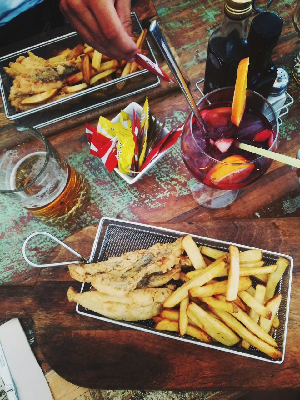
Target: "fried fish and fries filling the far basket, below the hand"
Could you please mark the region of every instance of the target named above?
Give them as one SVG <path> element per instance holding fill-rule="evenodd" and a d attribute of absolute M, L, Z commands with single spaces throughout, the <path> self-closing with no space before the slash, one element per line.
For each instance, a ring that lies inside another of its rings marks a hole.
<path fill-rule="evenodd" d="M 132 34 L 142 54 L 147 30 L 140 35 Z M 13 78 L 8 100 L 16 111 L 26 111 L 136 72 L 140 67 L 136 62 L 113 60 L 97 52 L 88 44 L 78 44 L 73 49 L 66 48 L 54 57 L 45 60 L 28 51 L 28 56 L 19 56 L 15 62 L 4 67 Z M 124 85 L 119 82 L 118 90 Z"/>

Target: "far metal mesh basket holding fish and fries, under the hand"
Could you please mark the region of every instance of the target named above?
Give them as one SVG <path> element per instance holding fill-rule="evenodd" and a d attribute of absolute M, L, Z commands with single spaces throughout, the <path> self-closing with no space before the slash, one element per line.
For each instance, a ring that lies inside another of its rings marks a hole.
<path fill-rule="evenodd" d="M 140 34 L 142 32 L 142 26 L 135 12 L 131 13 L 131 22 L 132 33 Z M 98 86 L 86 88 L 80 92 L 42 104 L 30 110 L 16 112 L 16 109 L 8 100 L 13 78 L 6 74 L 3 67 L 7 67 L 10 62 L 16 61 L 19 56 L 28 56 L 28 51 L 47 60 L 48 58 L 56 56 L 66 48 L 74 48 L 79 43 L 82 43 L 82 40 L 77 32 L 70 32 L 58 38 L 42 42 L 38 45 L 25 48 L 19 52 L 14 52 L 0 58 L 0 91 L 4 104 L 4 112 L 9 120 L 14 120 L 20 125 L 29 124 L 34 128 L 41 128 L 160 84 L 160 79 L 158 76 L 152 74 L 152 72 L 148 70 L 138 70 L 132 74 L 111 80 L 110 82 L 105 82 Z M 145 40 L 144 46 L 146 50 L 148 50 L 148 57 L 157 64 L 148 40 Z"/>

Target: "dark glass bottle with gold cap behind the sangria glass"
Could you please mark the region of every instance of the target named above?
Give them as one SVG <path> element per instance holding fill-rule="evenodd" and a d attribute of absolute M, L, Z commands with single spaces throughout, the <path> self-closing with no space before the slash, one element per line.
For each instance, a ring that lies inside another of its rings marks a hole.
<path fill-rule="evenodd" d="M 252 2 L 226 0 L 224 20 L 208 40 L 204 94 L 234 86 L 238 63 L 248 56 L 247 28 Z"/>

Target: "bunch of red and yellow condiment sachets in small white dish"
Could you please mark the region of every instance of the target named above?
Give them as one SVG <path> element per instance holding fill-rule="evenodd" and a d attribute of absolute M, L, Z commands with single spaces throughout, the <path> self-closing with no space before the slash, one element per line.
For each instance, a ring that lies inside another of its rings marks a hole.
<path fill-rule="evenodd" d="M 136 176 L 176 142 L 182 127 L 165 135 L 164 124 L 152 117 L 146 98 L 141 115 L 134 109 L 132 116 L 121 110 L 120 122 L 100 116 L 97 128 L 86 123 L 86 135 L 90 154 L 100 157 L 109 172 L 118 166 L 119 172 Z"/>

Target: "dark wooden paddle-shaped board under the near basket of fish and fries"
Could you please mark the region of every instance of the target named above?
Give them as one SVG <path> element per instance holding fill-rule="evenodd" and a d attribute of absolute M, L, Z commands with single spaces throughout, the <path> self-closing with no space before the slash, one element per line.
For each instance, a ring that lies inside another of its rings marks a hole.
<path fill-rule="evenodd" d="M 179 342 L 80 316 L 66 292 L 80 290 L 66 266 L 40 270 L 34 286 L 2 286 L 0 318 L 32 318 L 40 349 L 54 371 L 85 388 L 251 390 L 300 387 L 299 219 L 153 224 L 289 254 L 294 258 L 286 355 L 283 364 Z M 89 256 L 96 225 L 65 240 Z M 49 262 L 72 259 L 57 247 Z M 288 379 L 287 379 L 288 376 Z"/>

